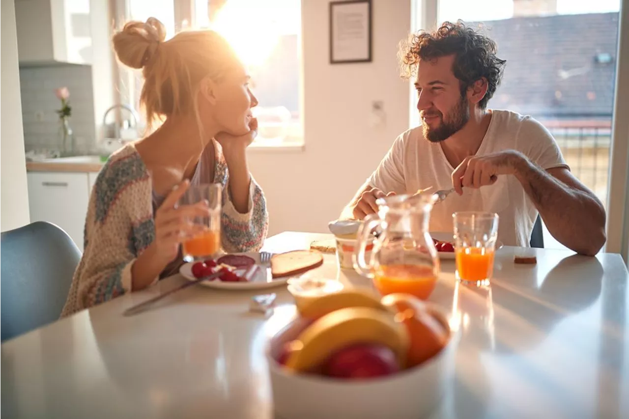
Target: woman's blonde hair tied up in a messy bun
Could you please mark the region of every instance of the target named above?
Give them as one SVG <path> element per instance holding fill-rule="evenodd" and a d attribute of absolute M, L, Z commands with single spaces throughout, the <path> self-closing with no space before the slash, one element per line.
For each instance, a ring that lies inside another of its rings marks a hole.
<path fill-rule="evenodd" d="M 183 31 L 165 41 L 162 22 L 130 21 L 113 36 L 118 60 L 142 69 L 144 86 L 140 104 L 147 126 L 171 115 L 196 115 L 199 82 L 210 77 L 220 82 L 239 63 L 237 55 L 218 33 Z"/>

